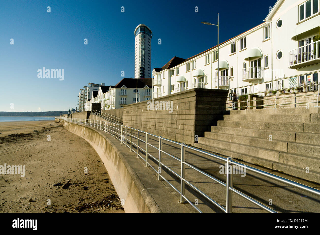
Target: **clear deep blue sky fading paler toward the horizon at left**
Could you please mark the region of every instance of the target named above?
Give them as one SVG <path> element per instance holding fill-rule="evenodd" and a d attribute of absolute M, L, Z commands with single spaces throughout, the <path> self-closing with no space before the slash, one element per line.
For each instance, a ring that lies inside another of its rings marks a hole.
<path fill-rule="evenodd" d="M 68 110 L 89 82 L 115 85 L 121 71 L 134 77 L 134 29 L 140 23 L 153 33 L 153 69 L 217 45 L 216 27 L 201 21 L 216 24 L 219 13 L 221 43 L 262 23 L 275 3 L 1 0 L 0 111 Z M 64 69 L 64 80 L 38 78 L 43 67 Z"/>

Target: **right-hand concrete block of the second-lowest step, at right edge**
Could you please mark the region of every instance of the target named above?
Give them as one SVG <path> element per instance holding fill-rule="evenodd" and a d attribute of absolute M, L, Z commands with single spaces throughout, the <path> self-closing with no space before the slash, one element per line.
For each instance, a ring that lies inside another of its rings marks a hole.
<path fill-rule="evenodd" d="M 308 167 L 309 170 L 320 172 L 320 158 L 316 157 L 303 156 L 290 152 L 280 152 L 279 162 L 305 169 L 305 171 L 306 167 Z"/>

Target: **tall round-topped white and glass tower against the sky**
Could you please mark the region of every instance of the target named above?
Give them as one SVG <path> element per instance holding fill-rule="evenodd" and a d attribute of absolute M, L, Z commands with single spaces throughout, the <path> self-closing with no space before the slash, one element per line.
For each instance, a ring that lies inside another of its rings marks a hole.
<path fill-rule="evenodd" d="M 134 78 L 151 77 L 151 30 L 139 24 L 134 30 Z"/>

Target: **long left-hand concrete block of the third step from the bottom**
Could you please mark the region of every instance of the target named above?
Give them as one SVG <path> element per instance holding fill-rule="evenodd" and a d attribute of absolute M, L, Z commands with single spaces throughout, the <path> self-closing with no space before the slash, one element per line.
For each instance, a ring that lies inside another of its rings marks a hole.
<path fill-rule="evenodd" d="M 216 140 L 223 140 L 236 144 L 245 144 L 255 147 L 272 149 L 275 151 L 287 152 L 287 142 L 272 139 L 269 141 L 267 138 L 249 137 L 241 135 L 231 135 L 215 132 L 205 132 L 204 137 Z"/>

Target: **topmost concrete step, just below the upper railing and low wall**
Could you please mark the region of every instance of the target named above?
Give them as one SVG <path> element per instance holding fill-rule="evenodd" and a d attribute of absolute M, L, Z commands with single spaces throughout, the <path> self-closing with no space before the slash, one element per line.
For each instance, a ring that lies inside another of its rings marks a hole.
<path fill-rule="evenodd" d="M 308 114 L 320 113 L 320 107 L 230 110 L 230 114 Z"/>

